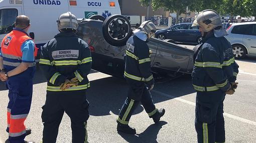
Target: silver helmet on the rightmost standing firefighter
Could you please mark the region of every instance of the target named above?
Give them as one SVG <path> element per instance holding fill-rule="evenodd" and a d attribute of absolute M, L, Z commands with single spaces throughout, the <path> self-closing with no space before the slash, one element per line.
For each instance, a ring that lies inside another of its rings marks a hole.
<path fill-rule="evenodd" d="M 220 16 L 215 10 L 206 9 L 201 11 L 192 24 L 192 26 L 196 25 L 201 26 L 204 32 L 209 32 L 219 27 L 214 29 L 214 35 L 216 37 L 227 35 L 226 30 L 221 27 L 222 22 Z"/>

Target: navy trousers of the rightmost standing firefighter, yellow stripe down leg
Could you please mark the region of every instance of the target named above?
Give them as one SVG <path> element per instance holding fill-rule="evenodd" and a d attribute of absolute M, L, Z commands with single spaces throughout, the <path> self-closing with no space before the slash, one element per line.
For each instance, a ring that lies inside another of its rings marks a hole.
<path fill-rule="evenodd" d="M 195 128 L 200 143 L 225 142 L 223 101 L 221 90 L 197 92 Z"/>

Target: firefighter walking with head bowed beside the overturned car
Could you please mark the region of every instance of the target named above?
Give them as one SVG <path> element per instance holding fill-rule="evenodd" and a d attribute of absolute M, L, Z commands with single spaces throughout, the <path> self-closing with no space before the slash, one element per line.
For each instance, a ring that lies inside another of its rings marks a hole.
<path fill-rule="evenodd" d="M 154 36 L 156 26 L 152 21 L 145 21 L 134 31 L 126 43 L 124 77 L 129 86 L 127 98 L 117 118 L 117 131 L 136 134 L 136 129 L 128 125 L 135 108 L 141 102 L 150 118 L 157 123 L 165 114 L 165 109 L 157 109 L 150 90 L 154 87 L 151 72 L 150 49 L 147 40 Z"/>

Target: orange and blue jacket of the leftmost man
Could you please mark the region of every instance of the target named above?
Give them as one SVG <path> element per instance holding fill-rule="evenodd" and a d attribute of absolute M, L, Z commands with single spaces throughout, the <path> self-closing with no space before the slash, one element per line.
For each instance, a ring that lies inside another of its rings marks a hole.
<path fill-rule="evenodd" d="M 9 79 L 32 79 L 35 73 L 35 55 L 37 50 L 33 39 L 22 29 L 14 28 L 7 34 L 1 44 L 0 56 L 3 57 L 6 72 L 13 70 L 21 62 L 29 63 L 28 69 L 9 77 Z"/>

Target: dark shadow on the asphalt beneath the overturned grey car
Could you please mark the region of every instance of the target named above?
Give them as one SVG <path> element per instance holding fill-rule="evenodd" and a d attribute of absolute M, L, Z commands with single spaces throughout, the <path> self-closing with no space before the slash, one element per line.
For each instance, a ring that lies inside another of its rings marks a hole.
<path fill-rule="evenodd" d="M 124 100 L 127 97 L 127 84 L 123 78 L 106 77 L 90 81 L 91 87 L 86 92 L 90 102 L 90 115 L 109 115 L 110 112 L 118 114 Z M 180 97 L 195 92 L 191 83 L 191 76 L 184 75 L 166 83 L 157 83 L 154 90 Z M 172 99 L 172 97 L 153 94 L 154 103 Z M 140 105 L 134 111 L 138 114 L 144 110 Z"/>

